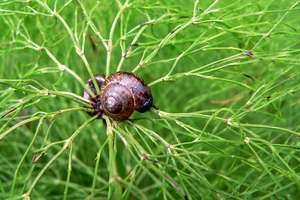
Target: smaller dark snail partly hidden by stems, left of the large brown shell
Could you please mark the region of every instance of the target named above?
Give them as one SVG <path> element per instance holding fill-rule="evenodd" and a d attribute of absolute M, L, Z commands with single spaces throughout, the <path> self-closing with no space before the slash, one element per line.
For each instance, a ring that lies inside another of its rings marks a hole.
<path fill-rule="evenodd" d="M 102 87 L 102 84 L 105 81 L 104 74 L 96 74 L 95 79 L 96 79 L 96 82 L 100 89 Z M 99 96 L 99 94 L 97 94 L 97 91 L 96 91 L 96 88 L 95 88 L 95 85 L 94 85 L 92 79 L 89 78 L 89 80 L 85 83 L 85 85 L 95 94 L 95 97 L 92 97 L 85 89 L 83 90 L 83 95 L 82 95 L 83 98 L 90 101 L 90 104 L 94 110 L 93 112 L 90 112 L 89 114 L 91 116 L 98 115 L 100 117 L 103 113 L 103 110 L 101 108 L 101 102 L 100 102 L 100 98 L 99 98 L 100 96 Z"/>

